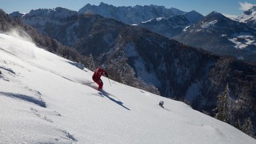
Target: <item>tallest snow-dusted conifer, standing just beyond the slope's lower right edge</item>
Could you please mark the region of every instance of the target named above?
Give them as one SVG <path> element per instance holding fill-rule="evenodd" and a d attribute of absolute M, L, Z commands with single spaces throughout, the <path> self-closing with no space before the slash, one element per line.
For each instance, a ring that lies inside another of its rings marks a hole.
<path fill-rule="evenodd" d="M 225 90 L 222 94 L 218 95 L 218 113 L 215 115 L 216 119 L 220 121 L 224 121 L 225 123 L 231 124 L 233 119 L 233 114 L 231 112 L 231 98 L 230 98 L 230 90 L 229 84 L 225 87 Z"/>

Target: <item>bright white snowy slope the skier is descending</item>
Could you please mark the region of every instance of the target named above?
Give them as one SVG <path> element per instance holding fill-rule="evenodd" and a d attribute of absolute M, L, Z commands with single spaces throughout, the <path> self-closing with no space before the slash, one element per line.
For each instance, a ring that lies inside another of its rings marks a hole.
<path fill-rule="evenodd" d="M 0 34 L 0 55 L 1 143 L 256 143 L 183 102 L 104 77 L 101 93 L 92 71 L 20 38 Z"/>

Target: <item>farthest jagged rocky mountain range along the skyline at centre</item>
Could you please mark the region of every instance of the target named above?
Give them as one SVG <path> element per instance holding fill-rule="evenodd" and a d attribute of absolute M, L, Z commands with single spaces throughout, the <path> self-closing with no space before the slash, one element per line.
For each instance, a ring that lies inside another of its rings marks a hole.
<path fill-rule="evenodd" d="M 134 23 L 140 23 L 152 18 L 168 18 L 170 16 L 176 16 L 184 14 L 185 12 L 178 10 L 177 8 L 165 8 L 164 6 L 157 5 L 145 5 L 145 6 L 113 6 L 106 3 L 100 3 L 100 5 L 87 4 L 81 8 L 78 13 L 99 14 L 105 18 L 112 18 L 129 25 Z"/>

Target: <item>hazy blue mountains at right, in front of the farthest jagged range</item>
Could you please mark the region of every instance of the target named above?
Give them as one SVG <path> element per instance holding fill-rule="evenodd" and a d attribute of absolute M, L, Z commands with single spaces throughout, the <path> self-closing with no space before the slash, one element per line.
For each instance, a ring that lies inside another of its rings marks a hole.
<path fill-rule="evenodd" d="M 190 19 L 194 18 L 194 21 L 188 20 L 186 14 L 190 14 Z M 253 23 L 253 19 L 247 24 L 240 23 L 218 12 L 205 17 L 197 12 L 187 12 L 170 18 L 150 19 L 136 25 L 198 49 L 256 62 L 256 33 L 250 23 Z"/>

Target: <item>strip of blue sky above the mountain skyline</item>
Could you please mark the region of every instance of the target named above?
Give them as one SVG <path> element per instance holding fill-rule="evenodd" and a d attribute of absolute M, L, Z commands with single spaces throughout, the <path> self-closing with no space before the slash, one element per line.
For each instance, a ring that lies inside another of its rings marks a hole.
<path fill-rule="evenodd" d="M 243 12 L 242 9 L 256 5 L 255 0 L 0 0 L 0 8 L 6 13 L 14 11 L 27 13 L 32 9 L 57 6 L 78 11 L 87 3 L 99 5 L 100 2 L 114 6 L 163 5 L 166 8 L 174 7 L 185 12 L 196 10 L 203 15 L 212 11 L 226 15 L 240 15 Z"/>

